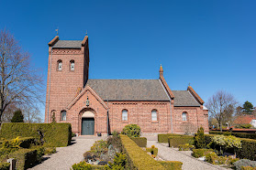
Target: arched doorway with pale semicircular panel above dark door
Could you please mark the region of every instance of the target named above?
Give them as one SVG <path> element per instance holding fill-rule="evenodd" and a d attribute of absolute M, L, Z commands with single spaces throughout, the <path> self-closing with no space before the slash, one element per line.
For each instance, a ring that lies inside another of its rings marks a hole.
<path fill-rule="evenodd" d="M 83 112 L 82 135 L 95 135 L 95 114 L 91 111 Z"/>

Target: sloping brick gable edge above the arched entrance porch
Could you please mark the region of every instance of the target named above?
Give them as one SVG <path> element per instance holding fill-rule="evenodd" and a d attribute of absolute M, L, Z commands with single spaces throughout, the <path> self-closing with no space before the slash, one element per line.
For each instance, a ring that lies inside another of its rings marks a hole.
<path fill-rule="evenodd" d="M 106 102 L 104 102 L 99 95 L 95 92 L 95 90 L 93 90 L 90 86 L 86 85 L 85 88 L 68 104 L 67 109 L 70 110 L 72 108 L 72 106 L 76 103 L 76 101 L 78 101 L 79 99 L 81 99 L 81 97 L 83 96 L 83 94 L 86 92 L 86 90 L 89 90 L 94 96 L 95 98 L 103 105 L 103 107 L 105 109 L 109 109 L 109 107 L 106 105 Z"/>

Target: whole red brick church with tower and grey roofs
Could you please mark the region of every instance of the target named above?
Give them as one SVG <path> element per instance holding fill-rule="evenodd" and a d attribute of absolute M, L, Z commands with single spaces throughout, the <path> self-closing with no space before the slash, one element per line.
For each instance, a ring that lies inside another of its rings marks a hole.
<path fill-rule="evenodd" d="M 57 36 L 48 44 L 45 122 L 70 122 L 79 135 L 121 132 L 130 123 L 141 133 L 208 132 L 204 101 L 191 86 L 171 90 L 162 67 L 156 80 L 90 80 L 88 43 Z"/>

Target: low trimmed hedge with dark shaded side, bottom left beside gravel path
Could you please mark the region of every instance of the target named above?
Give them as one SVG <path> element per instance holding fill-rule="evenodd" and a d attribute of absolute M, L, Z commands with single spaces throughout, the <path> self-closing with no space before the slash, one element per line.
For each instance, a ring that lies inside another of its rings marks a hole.
<path fill-rule="evenodd" d="M 36 149 L 19 149 L 8 155 L 17 160 L 16 169 L 23 170 L 39 162 Z"/>

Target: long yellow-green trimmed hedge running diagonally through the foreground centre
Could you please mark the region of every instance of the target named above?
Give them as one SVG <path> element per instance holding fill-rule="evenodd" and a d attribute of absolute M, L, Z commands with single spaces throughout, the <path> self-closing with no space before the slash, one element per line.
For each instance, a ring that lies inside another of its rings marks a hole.
<path fill-rule="evenodd" d="M 154 160 L 149 154 L 144 152 L 135 142 L 133 142 L 127 135 L 120 134 L 121 142 L 123 145 L 123 151 L 127 154 L 128 163 L 126 168 L 128 169 L 166 169 L 160 162 Z M 177 169 L 181 162 L 170 162 L 169 167 Z M 172 166 L 172 164 L 174 164 Z M 169 168 L 172 169 L 172 168 Z M 178 168 L 181 169 L 181 168 Z"/>

